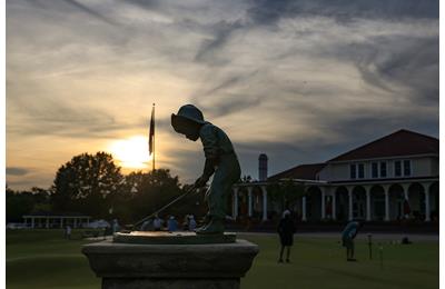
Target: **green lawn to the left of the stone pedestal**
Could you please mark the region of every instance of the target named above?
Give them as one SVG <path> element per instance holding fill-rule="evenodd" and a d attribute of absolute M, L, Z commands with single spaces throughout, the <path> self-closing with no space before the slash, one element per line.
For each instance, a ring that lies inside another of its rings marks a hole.
<path fill-rule="evenodd" d="M 7 288 L 100 288 L 77 240 L 63 239 L 62 230 L 7 232 Z"/>

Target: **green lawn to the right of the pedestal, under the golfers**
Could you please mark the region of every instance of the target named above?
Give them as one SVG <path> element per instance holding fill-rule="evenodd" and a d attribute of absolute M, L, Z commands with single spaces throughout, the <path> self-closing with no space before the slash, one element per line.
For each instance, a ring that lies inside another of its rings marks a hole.
<path fill-rule="evenodd" d="M 259 245 L 253 269 L 241 288 L 438 288 L 438 242 L 383 243 L 383 268 L 378 250 L 369 260 L 365 241 L 356 241 L 358 262 L 346 262 L 338 240 L 296 238 L 291 263 L 277 263 L 278 241 L 273 237 L 247 238 Z"/>

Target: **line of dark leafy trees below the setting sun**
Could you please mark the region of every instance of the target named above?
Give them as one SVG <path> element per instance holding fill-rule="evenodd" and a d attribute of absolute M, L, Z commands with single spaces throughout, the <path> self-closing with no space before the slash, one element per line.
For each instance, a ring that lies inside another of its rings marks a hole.
<path fill-rule="evenodd" d="M 14 191 L 6 188 L 7 222 L 21 222 L 28 213 L 82 213 L 95 219 L 135 222 L 179 195 L 181 185 L 168 169 L 122 175 L 107 152 L 81 153 L 62 165 L 48 189 Z M 191 195 L 164 215 L 199 217 L 206 212 L 202 193 Z"/>

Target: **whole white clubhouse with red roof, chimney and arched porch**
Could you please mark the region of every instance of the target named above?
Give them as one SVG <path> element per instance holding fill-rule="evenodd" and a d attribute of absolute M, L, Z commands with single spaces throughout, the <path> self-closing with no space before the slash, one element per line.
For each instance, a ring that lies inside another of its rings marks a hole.
<path fill-rule="evenodd" d="M 279 216 L 283 208 L 268 196 L 268 188 L 291 181 L 305 190 L 288 208 L 300 221 L 436 221 L 438 159 L 438 139 L 408 130 L 270 177 L 267 157 L 261 155 L 259 180 L 234 186 L 233 217 L 266 221 Z"/>

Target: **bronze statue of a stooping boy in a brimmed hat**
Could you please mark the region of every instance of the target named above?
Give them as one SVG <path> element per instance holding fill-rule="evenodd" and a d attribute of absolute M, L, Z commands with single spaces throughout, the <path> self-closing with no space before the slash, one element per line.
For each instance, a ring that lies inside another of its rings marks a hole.
<path fill-rule="evenodd" d="M 202 112 L 192 104 L 182 106 L 178 113 L 171 114 L 171 126 L 187 139 L 201 140 L 206 163 L 202 175 L 195 187 L 201 188 L 214 175 L 210 188 L 206 192 L 209 207 L 208 221 L 197 229 L 197 233 L 222 233 L 226 218 L 227 198 L 231 187 L 240 178 L 240 167 L 234 146 L 227 134 L 218 127 L 204 120 Z"/>

